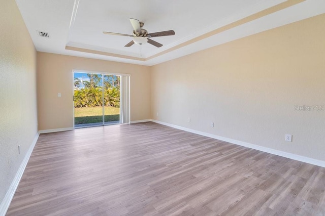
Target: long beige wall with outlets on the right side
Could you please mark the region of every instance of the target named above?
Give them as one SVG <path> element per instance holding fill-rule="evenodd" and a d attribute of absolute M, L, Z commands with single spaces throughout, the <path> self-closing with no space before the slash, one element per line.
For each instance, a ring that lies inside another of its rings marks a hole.
<path fill-rule="evenodd" d="M 325 161 L 325 111 L 295 111 L 325 105 L 324 23 L 319 15 L 153 66 L 152 118 Z"/>

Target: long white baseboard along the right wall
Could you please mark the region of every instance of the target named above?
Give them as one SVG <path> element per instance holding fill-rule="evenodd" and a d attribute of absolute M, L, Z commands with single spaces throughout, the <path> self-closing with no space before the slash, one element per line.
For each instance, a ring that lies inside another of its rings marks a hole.
<path fill-rule="evenodd" d="M 214 135 L 214 134 L 209 134 L 209 133 L 205 133 L 205 132 L 201 132 L 201 131 L 196 131 L 194 129 L 178 126 L 178 125 L 175 125 L 175 124 L 166 123 L 166 122 L 163 122 L 163 121 L 158 121 L 158 120 L 154 120 L 154 119 L 151 119 L 151 121 L 156 122 L 158 124 L 163 124 L 163 125 L 166 125 L 166 126 L 181 129 L 182 131 L 187 131 L 187 132 L 190 132 L 190 133 L 193 133 L 193 134 L 198 134 L 198 135 L 202 135 L 202 136 L 205 136 L 205 137 L 210 137 L 210 138 L 225 141 L 225 142 L 228 142 L 228 143 L 233 143 L 233 144 L 236 144 L 236 145 L 240 145 L 240 146 L 244 146 L 244 147 L 247 147 L 247 148 L 255 149 L 255 150 L 258 150 L 258 151 L 263 151 L 263 152 L 267 152 L 267 153 L 270 153 L 270 154 L 275 154 L 275 155 L 278 155 L 278 156 L 290 158 L 290 159 L 293 159 L 293 160 L 298 160 L 298 161 L 301 161 L 301 162 L 310 163 L 310 164 L 313 164 L 313 165 L 325 167 L 325 161 L 322 161 L 322 160 L 317 160 L 317 159 L 313 159 L 313 158 L 310 158 L 310 157 L 305 157 L 305 156 L 292 154 L 292 153 L 288 153 L 288 152 L 284 152 L 284 151 L 280 151 L 280 150 L 276 150 L 276 149 L 271 149 L 271 148 L 267 148 L 267 147 L 263 147 L 263 146 L 258 146 L 258 145 L 242 142 L 242 141 L 239 141 L 239 140 L 233 140 L 233 139 L 226 138 L 226 137 L 220 137 L 220 136 L 217 136 L 217 135 Z"/>

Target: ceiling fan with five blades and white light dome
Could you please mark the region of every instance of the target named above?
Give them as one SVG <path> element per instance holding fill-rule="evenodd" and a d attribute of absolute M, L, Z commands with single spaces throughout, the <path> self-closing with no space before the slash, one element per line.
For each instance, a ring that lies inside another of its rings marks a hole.
<path fill-rule="evenodd" d="M 161 47 L 162 44 L 159 44 L 158 42 L 150 39 L 150 37 L 161 37 L 161 36 L 169 36 L 169 35 L 175 35 L 175 31 L 169 30 L 169 31 L 159 31 L 154 33 L 148 33 L 146 29 L 143 29 L 142 26 L 144 25 L 143 22 L 140 22 L 137 19 L 130 19 L 131 25 L 133 27 L 133 35 L 131 34 L 121 34 L 121 33 L 114 33 L 114 32 L 107 32 L 103 31 L 104 34 L 112 34 L 112 35 L 121 35 L 121 36 L 128 36 L 133 37 L 133 40 L 131 40 L 127 45 L 124 47 L 131 47 L 134 44 L 142 45 L 148 42 L 149 44 L 155 46 L 155 47 Z"/>

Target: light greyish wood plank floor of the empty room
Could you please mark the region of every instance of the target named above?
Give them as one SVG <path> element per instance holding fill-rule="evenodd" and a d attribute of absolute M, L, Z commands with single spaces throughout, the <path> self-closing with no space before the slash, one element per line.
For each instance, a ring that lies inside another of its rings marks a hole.
<path fill-rule="evenodd" d="M 325 215 L 325 168 L 153 122 L 43 134 L 8 215 Z"/>

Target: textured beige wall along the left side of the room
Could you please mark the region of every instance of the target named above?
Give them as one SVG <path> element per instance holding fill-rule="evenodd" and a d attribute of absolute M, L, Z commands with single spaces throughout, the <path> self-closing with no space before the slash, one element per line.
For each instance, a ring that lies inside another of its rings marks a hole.
<path fill-rule="evenodd" d="M 37 135 L 36 51 L 15 1 L 0 0 L 0 203 Z M 21 153 L 18 155 L 18 145 Z"/>

